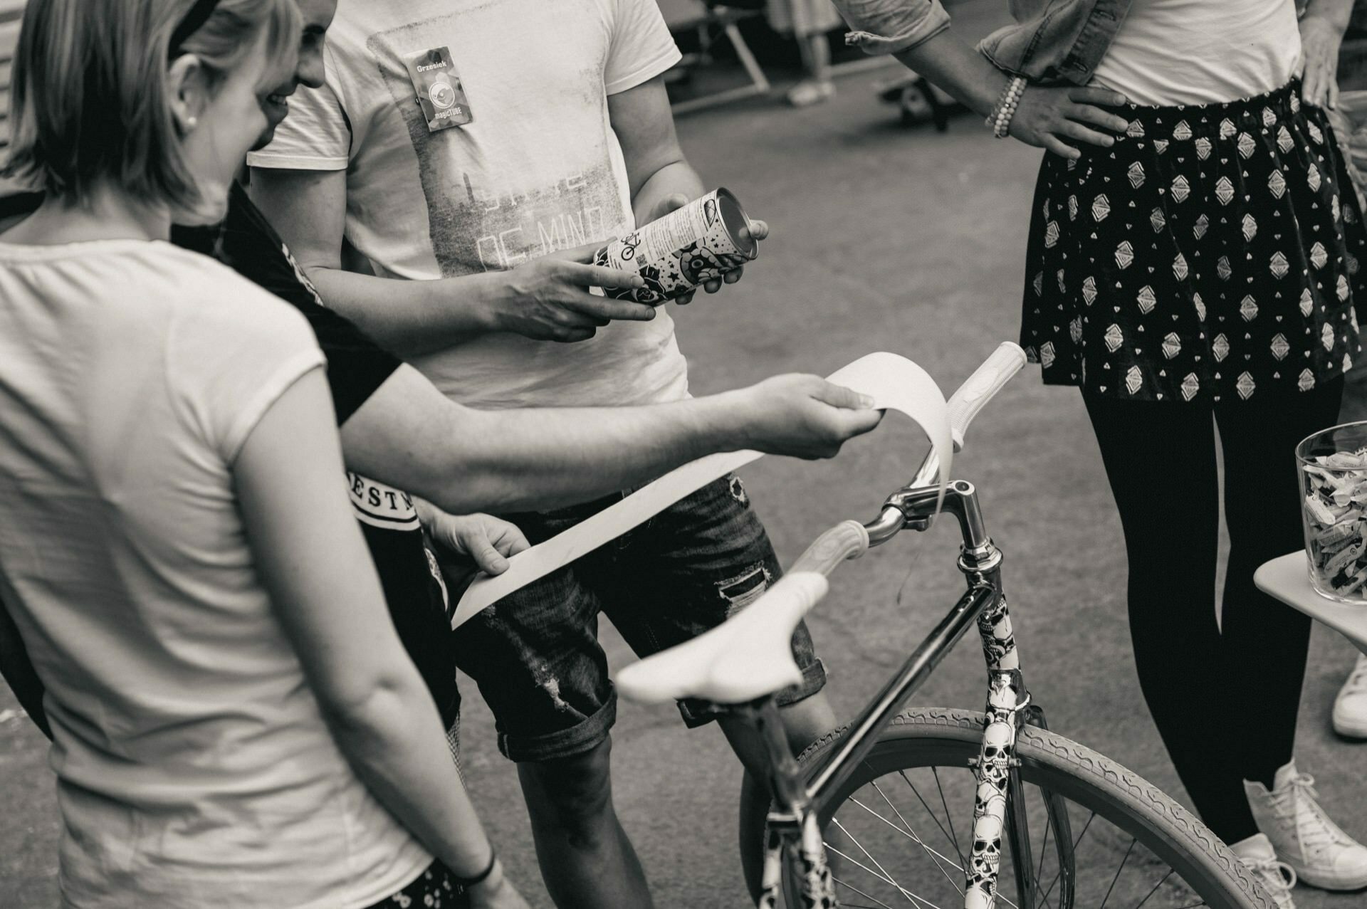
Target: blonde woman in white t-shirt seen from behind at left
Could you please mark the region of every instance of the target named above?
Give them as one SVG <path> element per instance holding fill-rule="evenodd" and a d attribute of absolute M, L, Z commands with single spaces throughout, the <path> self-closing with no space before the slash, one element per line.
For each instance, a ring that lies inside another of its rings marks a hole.
<path fill-rule="evenodd" d="M 30 3 L 0 234 L 0 603 L 45 689 L 67 906 L 498 906 L 303 318 L 165 242 L 294 66 L 290 0 Z M 463 891 L 463 893 L 462 893 Z"/>

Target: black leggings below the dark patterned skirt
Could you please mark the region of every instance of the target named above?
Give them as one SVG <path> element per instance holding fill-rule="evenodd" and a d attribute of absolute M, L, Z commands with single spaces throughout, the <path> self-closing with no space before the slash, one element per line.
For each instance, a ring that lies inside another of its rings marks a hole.
<path fill-rule="evenodd" d="M 1196 811 L 1225 842 L 1258 832 L 1243 781 L 1270 787 L 1292 759 L 1311 622 L 1259 592 L 1254 571 L 1304 544 L 1295 446 L 1334 424 L 1342 392 L 1338 379 L 1215 405 L 1083 395 L 1125 529 L 1139 683 Z M 1221 625 L 1217 424 L 1230 541 Z"/>

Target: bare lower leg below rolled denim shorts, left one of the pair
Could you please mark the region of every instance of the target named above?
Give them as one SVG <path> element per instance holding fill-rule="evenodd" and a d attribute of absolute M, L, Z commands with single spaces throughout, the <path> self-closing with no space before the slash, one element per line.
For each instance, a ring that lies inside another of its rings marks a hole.
<path fill-rule="evenodd" d="M 517 765 L 541 880 L 559 909 L 651 909 L 645 871 L 612 808 L 611 740 Z"/>

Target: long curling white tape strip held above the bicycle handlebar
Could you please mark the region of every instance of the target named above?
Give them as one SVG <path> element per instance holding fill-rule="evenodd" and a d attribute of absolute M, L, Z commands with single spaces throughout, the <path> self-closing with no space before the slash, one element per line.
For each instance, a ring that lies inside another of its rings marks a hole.
<path fill-rule="evenodd" d="M 828 380 L 869 395 L 875 407 L 904 413 L 921 428 L 939 458 L 939 484 L 943 498 L 954 446 L 950 439 L 945 395 L 935 380 L 910 359 L 889 353 L 860 357 L 831 373 Z M 455 607 L 451 627 L 459 627 L 484 607 L 588 555 L 686 495 L 697 492 L 712 480 L 725 477 L 761 457 L 759 451 L 731 451 L 699 458 L 641 487 L 565 533 L 517 554 L 509 559 L 507 571 L 498 577 L 480 575 L 466 588 L 465 596 Z"/>

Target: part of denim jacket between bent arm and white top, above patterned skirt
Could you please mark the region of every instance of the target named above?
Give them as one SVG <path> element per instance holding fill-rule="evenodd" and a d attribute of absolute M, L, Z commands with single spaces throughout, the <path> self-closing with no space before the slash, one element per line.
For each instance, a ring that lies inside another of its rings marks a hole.
<path fill-rule="evenodd" d="M 1010 0 L 1016 25 L 977 49 L 998 68 L 1040 82 L 1084 85 L 1106 56 L 1132 0 Z"/>

